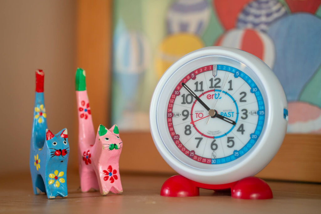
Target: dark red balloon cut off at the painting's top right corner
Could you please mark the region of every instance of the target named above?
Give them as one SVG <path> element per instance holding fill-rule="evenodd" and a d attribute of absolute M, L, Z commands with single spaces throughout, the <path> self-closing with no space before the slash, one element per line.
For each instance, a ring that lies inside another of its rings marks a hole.
<path fill-rule="evenodd" d="M 307 12 L 314 14 L 321 4 L 321 0 L 285 0 L 292 13 Z"/>

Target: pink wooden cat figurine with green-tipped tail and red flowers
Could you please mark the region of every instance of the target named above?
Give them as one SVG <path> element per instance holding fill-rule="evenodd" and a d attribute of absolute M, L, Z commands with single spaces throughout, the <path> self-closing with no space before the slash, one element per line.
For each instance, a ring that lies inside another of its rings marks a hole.
<path fill-rule="evenodd" d="M 96 139 L 86 90 L 86 73 L 76 72 L 76 97 L 79 122 L 79 175 L 82 192 L 100 189 L 102 195 L 122 193 L 119 156 L 123 147 L 117 125 L 107 129 L 99 125 Z"/>

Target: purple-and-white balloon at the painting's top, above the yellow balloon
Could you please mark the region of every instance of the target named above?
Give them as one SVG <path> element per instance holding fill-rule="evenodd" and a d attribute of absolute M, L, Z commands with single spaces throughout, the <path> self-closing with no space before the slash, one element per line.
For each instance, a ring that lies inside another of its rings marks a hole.
<path fill-rule="evenodd" d="M 207 0 L 178 0 L 166 15 L 169 34 L 187 32 L 201 35 L 207 27 L 211 8 Z"/>

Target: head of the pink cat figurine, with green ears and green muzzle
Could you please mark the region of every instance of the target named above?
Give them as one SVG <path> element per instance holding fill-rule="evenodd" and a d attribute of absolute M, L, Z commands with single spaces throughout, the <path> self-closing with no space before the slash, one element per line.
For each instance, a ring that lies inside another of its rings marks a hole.
<path fill-rule="evenodd" d="M 119 131 L 117 125 L 113 125 L 110 129 L 107 129 L 103 125 L 99 125 L 98 129 L 99 140 L 104 146 L 104 149 L 108 151 L 121 150 L 123 142 L 119 138 Z"/>

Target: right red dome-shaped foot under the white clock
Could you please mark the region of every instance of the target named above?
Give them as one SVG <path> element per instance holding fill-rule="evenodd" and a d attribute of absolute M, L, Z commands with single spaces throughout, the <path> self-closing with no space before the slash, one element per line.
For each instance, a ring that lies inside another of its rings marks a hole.
<path fill-rule="evenodd" d="M 273 194 L 269 185 L 260 178 L 247 177 L 231 188 L 231 196 L 239 199 L 270 199 Z"/>

